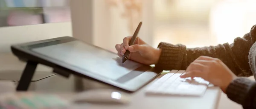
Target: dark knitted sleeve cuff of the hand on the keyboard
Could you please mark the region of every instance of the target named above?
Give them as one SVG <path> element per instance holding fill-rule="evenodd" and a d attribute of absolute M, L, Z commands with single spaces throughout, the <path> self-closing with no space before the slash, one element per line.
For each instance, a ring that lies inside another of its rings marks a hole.
<path fill-rule="evenodd" d="M 248 78 L 233 80 L 227 87 L 227 97 L 244 109 L 256 109 L 256 82 Z"/>

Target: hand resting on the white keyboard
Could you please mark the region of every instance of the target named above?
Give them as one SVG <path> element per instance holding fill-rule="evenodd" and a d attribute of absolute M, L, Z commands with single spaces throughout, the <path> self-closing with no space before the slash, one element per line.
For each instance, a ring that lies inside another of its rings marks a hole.
<path fill-rule="evenodd" d="M 186 69 L 186 73 L 180 76 L 201 77 L 206 81 L 221 88 L 226 93 L 227 86 L 236 77 L 236 75 L 220 60 L 207 56 L 200 56 L 193 61 Z"/>

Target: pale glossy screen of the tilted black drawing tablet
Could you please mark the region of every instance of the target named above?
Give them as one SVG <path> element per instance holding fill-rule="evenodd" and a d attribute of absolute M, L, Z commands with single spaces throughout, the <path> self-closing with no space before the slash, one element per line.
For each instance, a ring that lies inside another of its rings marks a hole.
<path fill-rule="evenodd" d="M 32 48 L 32 51 L 113 80 L 143 66 L 130 60 L 122 63 L 116 54 L 78 40 Z"/>

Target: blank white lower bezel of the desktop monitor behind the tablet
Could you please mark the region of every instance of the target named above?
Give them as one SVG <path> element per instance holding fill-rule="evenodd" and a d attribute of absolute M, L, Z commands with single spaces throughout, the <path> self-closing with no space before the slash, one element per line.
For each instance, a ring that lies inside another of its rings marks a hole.
<path fill-rule="evenodd" d="M 0 27 L 0 53 L 10 52 L 10 46 L 17 43 L 72 36 L 70 22 Z"/>

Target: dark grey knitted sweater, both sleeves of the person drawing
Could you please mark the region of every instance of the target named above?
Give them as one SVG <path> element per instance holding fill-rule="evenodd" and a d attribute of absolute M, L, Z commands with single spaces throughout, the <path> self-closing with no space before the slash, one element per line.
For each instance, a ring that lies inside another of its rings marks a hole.
<path fill-rule="evenodd" d="M 186 70 L 186 67 L 199 56 L 221 59 L 239 78 L 227 87 L 227 96 L 239 103 L 244 109 L 256 109 L 256 25 L 242 38 L 234 39 L 232 44 L 219 44 L 203 48 L 186 48 L 185 45 L 172 45 L 161 42 L 158 45 L 161 54 L 155 65 L 162 70 Z"/>

